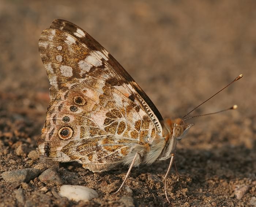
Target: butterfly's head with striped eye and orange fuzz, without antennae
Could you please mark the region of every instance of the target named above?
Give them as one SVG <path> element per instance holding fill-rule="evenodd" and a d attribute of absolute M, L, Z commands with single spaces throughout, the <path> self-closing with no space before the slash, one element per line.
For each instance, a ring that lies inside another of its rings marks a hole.
<path fill-rule="evenodd" d="M 194 124 L 186 124 L 182 119 L 177 118 L 174 120 L 167 119 L 166 125 L 170 129 L 170 134 L 176 140 L 181 140 L 187 133 L 190 127 Z"/>

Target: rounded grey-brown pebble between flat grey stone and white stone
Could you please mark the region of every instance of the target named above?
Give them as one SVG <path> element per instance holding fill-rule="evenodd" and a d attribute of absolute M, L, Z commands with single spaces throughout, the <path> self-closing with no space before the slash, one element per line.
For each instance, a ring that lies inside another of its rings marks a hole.
<path fill-rule="evenodd" d="M 53 185 L 62 185 L 63 181 L 61 180 L 59 174 L 56 170 L 50 168 L 42 172 L 42 174 L 38 177 L 39 180 L 46 184 Z"/>

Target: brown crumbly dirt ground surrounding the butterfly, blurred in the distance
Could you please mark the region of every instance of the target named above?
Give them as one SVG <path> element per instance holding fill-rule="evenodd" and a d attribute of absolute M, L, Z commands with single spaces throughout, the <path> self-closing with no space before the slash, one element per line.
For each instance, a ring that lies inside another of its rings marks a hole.
<path fill-rule="evenodd" d="M 153 100 L 163 117 L 183 116 L 221 87 L 244 77 L 192 115 L 178 142 L 167 193 L 172 206 L 256 206 L 256 1 L 0 1 L 0 173 L 37 168 L 34 150 L 49 103 L 38 39 L 53 19 L 77 24 L 100 42 Z M 90 202 L 58 197 L 38 176 L 0 177 L 0 206 L 170 206 L 163 191 L 169 161 L 93 173 L 77 163 L 55 167 L 64 184 L 98 192 Z M 19 190 L 21 189 L 21 190 Z M 132 192 L 131 192 L 132 191 Z M 19 193 L 21 192 L 21 193 Z M 240 198 L 239 198 L 240 197 Z"/>

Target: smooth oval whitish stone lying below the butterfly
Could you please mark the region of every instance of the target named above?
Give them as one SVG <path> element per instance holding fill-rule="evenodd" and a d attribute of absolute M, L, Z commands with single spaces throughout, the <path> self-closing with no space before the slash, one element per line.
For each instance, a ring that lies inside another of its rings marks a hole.
<path fill-rule="evenodd" d="M 79 200 L 89 201 L 93 198 L 99 198 L 96 191 L 81 185 L 62 185 L 60 187 L 59 195 L 76 202 L 79 202 Z"/>

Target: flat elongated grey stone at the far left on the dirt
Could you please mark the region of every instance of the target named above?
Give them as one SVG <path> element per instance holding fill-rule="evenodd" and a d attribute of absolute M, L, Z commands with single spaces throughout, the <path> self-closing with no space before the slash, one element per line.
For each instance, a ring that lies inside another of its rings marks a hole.
<path fill-rule="evenodd" d="M 34 168 L 25 168 L 21 170 L 12 170 L 9 172 L 3 172 L 2 177 L 5 181 L 11 183 L 29 182 L 39 175 L 41 170 Z"/>

